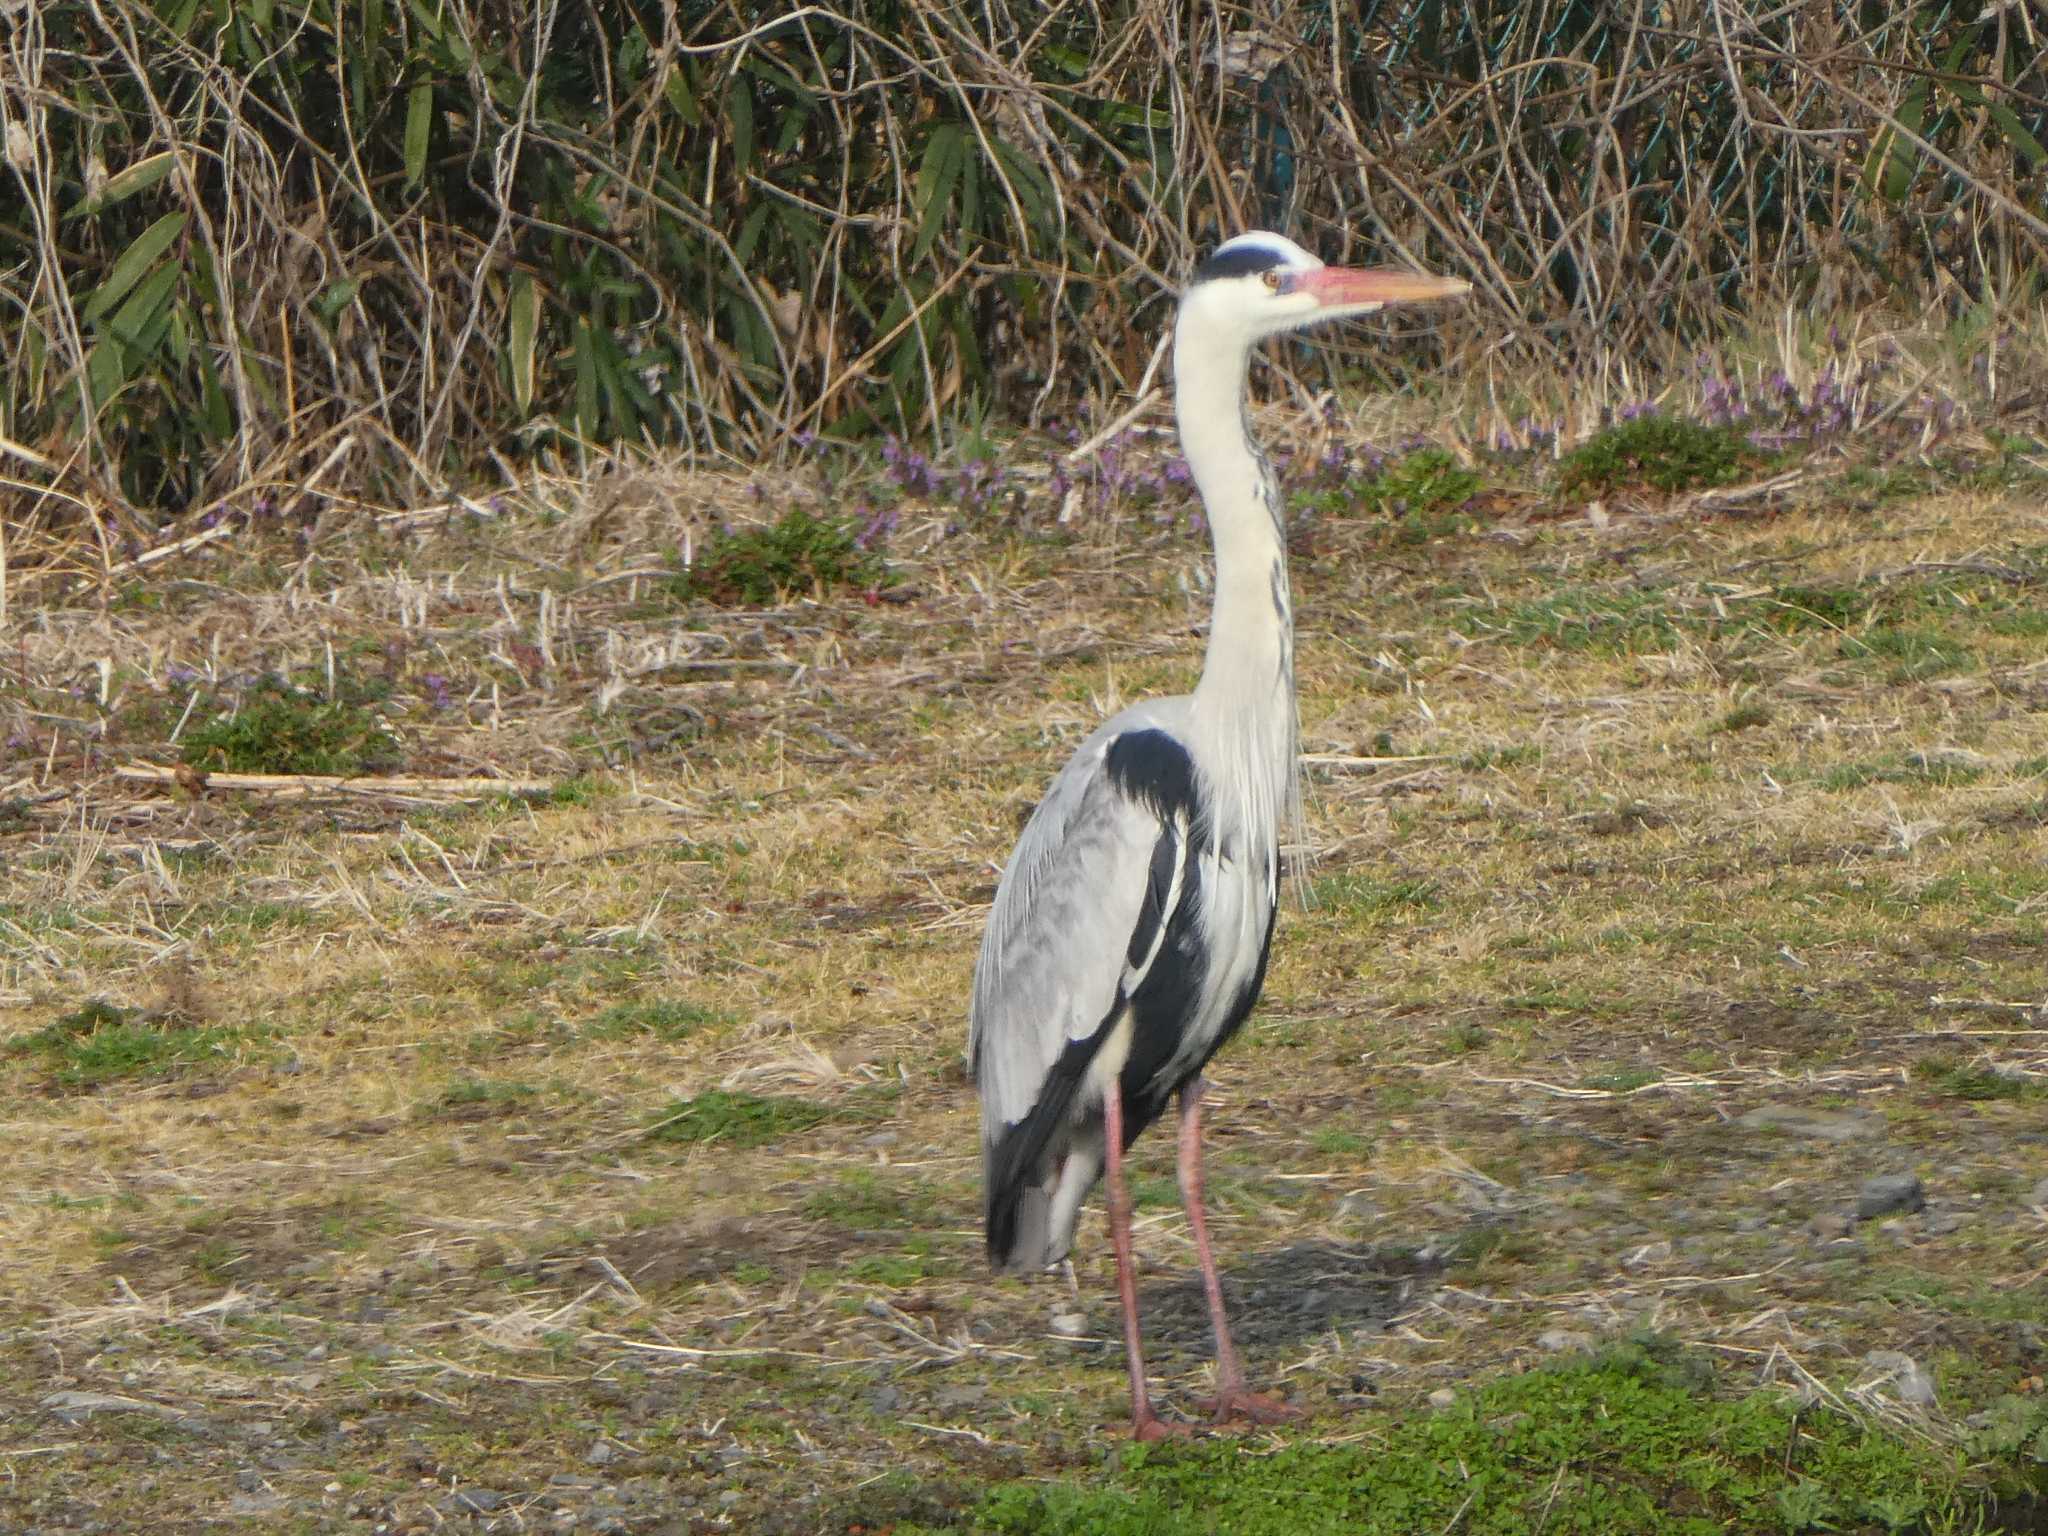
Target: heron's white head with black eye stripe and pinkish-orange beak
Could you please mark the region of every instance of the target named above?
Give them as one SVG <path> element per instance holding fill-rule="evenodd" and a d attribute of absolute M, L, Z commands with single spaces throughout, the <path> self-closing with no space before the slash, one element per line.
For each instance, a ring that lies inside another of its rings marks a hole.
<path fill-rule="evenodd" d="M 1456 276 L 1325 266 L 1292 240 L 1253 229 L 1225 240 L 1194 268 L 1180 305 L 1184 322 L 1249 346 L 1321 319 L 1370 315 L 1391 303 L 1456 299 L 1470 287 Z"/>

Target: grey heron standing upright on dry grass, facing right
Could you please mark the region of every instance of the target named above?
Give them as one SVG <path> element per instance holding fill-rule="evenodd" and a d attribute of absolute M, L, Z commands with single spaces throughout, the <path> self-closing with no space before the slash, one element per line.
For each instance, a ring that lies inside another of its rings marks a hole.
<path fill-rule="evenodd" d="M 1108 1171 L 1130 1421 L 1182 1434 L 1145 1389 L 1122 1159 L 1180 1096 L 1180 1194 L 1217 1337 L 1217 1419 L 1294 1409 L 1245 1382 L 1202 1219 L 1202 1067 L 1257 999 L 1298 815 L 1294 621 L 1280 487 L 1251 440 L 1245 375 L 1266 336 L 1466 283 L 1325 266 L 1274 233 L 1202 262 L 1174 328 L 1174 414 L 1214 541 L 1214 606 L 1192 694 L 1147 698 L 1094 731 L 1004 868 L 975 965 L 969 1061 L 981 1092 L 989 1260 L 1067 1257 Z"/>

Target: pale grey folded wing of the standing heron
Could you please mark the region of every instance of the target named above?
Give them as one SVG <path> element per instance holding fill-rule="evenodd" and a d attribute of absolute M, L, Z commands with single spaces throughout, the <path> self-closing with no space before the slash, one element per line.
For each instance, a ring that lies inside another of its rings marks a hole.
<path fill-rule="evenodd" d="M 1112 748 L 1133 735 L 1180 752 L 1151 721 L 1090 737 L 1038 803 L 995 893 L 969 1024 L 985 1143 L 1038 1108 L 1067 1049 L 1090 1042 L 1130 995 L 1180 897 L 1186 807 L 1137 795 L 1110 770 Z"/>

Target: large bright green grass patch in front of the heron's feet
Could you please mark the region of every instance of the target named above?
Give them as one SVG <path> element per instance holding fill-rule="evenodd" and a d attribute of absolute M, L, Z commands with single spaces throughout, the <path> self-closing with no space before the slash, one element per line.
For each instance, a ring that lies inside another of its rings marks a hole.
<path fill-rule="evenodd" d="M 1708 1366 L 1632 1343 L 1493 1380 L 1442 1413 L 1380 1419 L 1368 1444 L 1255 1456 L 1227 1440 L 1130 1446 L 1100 1479 L 997 1487 L 958 1520 L 897 1530 L 1708 1536 L 1974 1524 L 1982 1501 L 1954 1454 L 1800 1411 L 1784 1393 L 1710 1389 Z M 2003 1440 L 2032 1446 L 2034 1419 L 2011 1417 Z"/>

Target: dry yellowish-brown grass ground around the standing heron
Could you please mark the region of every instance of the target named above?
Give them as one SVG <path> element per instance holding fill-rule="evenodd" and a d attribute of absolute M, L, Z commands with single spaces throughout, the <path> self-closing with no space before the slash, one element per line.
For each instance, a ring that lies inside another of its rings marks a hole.
<path fill-rule="evenodd" d="M 676 606 L 674 516 L 754 504 L 680 477 L 16 606 L 0 1509 L 428 1528 L 481 1485 L 530 1524 L 834 1528 L 883 1464 L 1085 1460 L 1122 1393 L 1106 1251 L 1077 1296 L 985 1276 L 963 997 L 1051 768 L 1192 682 L 1204 549 L 1032 496 L 1024 532 L 907 520 L 901 602 Z M 1554 1329 L 1937 1436 L 2038 1389 L 2048 508 L 1778 500 L 1325 518 L 1296 561 L 1315 901 L 1219 1063 L 1212 1171 L 1303 1434 Z M 410 774 L 555 788 L 121 778 L 172 760 L 180 670 L 377 680 Z M 133 1061 L 49 1034 L 96 997 Z M 707 1094 L 805 1108 L 678 1139 Z M 1868 1135 L 1735 1124 L 1759 1106 Z M 1192 1249 L 1161 1143 L 1139 1171 L 1178 1403 Z M 1831 1221 L 1872 1171 L 1929 1212 Z"/>

